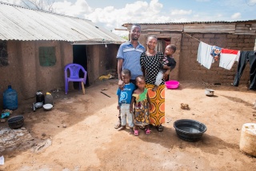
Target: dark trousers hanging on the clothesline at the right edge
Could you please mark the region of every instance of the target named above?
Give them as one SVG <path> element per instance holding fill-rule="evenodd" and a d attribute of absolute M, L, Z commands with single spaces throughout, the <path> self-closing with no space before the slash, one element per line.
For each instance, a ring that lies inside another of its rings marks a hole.
<path fill-rule="evenodd" d="M 250 87 L 249 89 L 256 89 L 256 54 L 254 51 L 241 51 L 238 61 L 238 70 L 234 77 L 234 86 L 239 85 L 242 72 L 246 67 L 246 63 L 250 63 Z"/>

